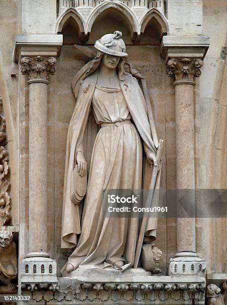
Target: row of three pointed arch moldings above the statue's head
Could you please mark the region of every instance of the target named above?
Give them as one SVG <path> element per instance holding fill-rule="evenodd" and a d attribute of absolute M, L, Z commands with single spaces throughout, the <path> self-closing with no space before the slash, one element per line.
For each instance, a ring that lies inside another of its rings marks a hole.
<path fill-rule="evenodd" d="M 56 33 L 62 32 L 63 25 L 68 20 L 68 18 L 72 17 L 79 26 L 80 40 L 85 42 L 89 37 L 89 34 L 92 30 L 92 26 L 96 18 L 110 8 L 114 8 L 116 11 L 120 12 L 125 16 L 128 24 L 131 27 L 131 40 L 133 42 L 137 42 L 139 40 L 139 37 L 141 37 L 142 33 L 144 32 L 146 25 L 152 18 L 155 18 L 157 22 L 160 24 L 161 36 L 169 32 L 169 26 L 166 17 L 156 8 L 151 8 L 147 10 L 145 15 L 142 17 L 141 21 L 139 22 L 133 10 L 130 9 L 123 2 L 103 1 L 92 9 L 92 11 L 90 12 L 89 16 L 86 19 L 84 19 L 83 16 L 80 14 L 81 7 L 67 8 L 57 18 L 56 28 L 55 28 Z"/>

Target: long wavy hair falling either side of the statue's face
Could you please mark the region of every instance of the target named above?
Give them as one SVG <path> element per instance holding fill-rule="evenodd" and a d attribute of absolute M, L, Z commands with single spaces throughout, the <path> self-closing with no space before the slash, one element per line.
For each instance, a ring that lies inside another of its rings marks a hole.
<path fill-rule="evenodd" d="M 84 65 L 74 76 L 74 78 L 72 80 L 72 88 L 73 88 L 76 98 L 79 93 L 80 85 L 87 77 L 89 77 L 97 69 L 99 69 L 103 56 L 104 56 L 104 53 L 98 51 L 96 57 L 94 59 L 92 59 L 91 61 L 89 61 L 86 65 Z M 118 65 L 117 65 L 117 70 L 118 70 L 119 80 L 124 82 L 123 87 L 126 90 L 128 88 L 128 85 L 127 85 L 126 79 L 123 78 L 123 75 L 127 75 L 128 73 L 125 71 L 125 64 L 126 64 L 126 58 L 121 57 Z"/>

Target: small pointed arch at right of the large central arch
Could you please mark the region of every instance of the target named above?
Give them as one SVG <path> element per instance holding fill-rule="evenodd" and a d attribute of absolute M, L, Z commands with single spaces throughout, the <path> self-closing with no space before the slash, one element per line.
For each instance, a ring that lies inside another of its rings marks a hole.
<path fill-rule="evenodd" d="M 155 7 L 149 9 L 146 14 L 143 16 L 143 18 L 140 21 L 140 32 L 144 33 L 144 30 L 149 23 L 149 21 L 154 18 L 160 25 L 161 29 L 161 37 L 164 34 L 168 34 L 169 32 L 169 25 L 166 17 Z"/>

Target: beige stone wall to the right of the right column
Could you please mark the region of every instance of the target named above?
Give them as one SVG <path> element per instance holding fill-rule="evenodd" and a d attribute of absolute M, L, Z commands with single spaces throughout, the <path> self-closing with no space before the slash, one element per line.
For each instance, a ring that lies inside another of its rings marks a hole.
<path fill-rule="evenodd" d="M 203 34 L 211 44 L 195 102 L 196 187 L 227 188 L 227 2 L 203 1 Z M 227 273 L 227 220 L 197 221 L 197 251 L 208 273 Z"/>

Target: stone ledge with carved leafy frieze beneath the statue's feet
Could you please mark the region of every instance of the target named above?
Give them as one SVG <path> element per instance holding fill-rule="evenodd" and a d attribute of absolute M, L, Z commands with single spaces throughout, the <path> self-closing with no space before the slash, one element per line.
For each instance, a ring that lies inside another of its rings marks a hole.
<path fill-rule="evenodd" d="M 198 276 L 128 276 L 110 275 L 105 279 L 87 275 L 58 278 L 59 287 L 48 285 L 23 286 L 23 296 L 30 296 L 35 304 L 146 304 L 197 305 L 205 302 L 205 278 Z M 59 289 L 59 290 L 58 290 Z"/>

